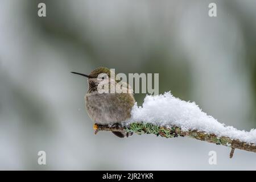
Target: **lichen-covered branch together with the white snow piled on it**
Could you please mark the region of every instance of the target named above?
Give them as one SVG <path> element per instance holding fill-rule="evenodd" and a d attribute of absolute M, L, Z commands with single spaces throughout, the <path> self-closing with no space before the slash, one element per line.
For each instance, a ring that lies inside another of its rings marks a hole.
<path fill-rule="evenodd" d="M 146 96 L 142 106 L 134 105 L 131 118 L 118 127 L 95 125 L 96 131 L 130 131 L 166 138 L 191 137 L 210 143 L 256 152 L 256 130 L 241 131 L 225 126 L 204 113 L 195 102 L 182 101 L 170 92 Z"/>

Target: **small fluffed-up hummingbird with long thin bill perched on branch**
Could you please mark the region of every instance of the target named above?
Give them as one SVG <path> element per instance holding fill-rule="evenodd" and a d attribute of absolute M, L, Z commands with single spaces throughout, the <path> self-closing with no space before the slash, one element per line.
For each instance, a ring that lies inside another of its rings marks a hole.
<path fill-rule="evenodd" d="M 135 104 L 133 96 L 133 89 L 127 85 L 127 92 L 124 93 L 101 93 L 98 92 L 98 85 L 102 82 L 108 85 L 117 84 L 120 80 L 114 75 L 110 77 L 109 68 L 100 67 L 94 69 L 89 75 L 83 73 L 71 72 L 77 75 L 87 77 L 88 80 L 88 92 L 85 94 L 85 107 L 89 117 L 94 123 L 99 125 L 112 125 L 118 126 L 118 124 L 131 117 L 131 109 Z M 101 78 L 99 78 L 102 75 Z M 106 79 L 108 78 L 108 79 Z M 133 133 L 112 131 L 114 135 L 120 138 L 129 137 Z"/>

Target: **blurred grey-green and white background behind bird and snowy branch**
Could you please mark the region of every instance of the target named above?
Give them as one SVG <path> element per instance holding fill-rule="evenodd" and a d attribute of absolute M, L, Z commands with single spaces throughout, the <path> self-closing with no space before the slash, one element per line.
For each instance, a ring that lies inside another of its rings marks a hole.
<path fill-rule="evenodd" d="M 210 2 L 217 17 L 208 16 Z M 159 73 L 160 93 L 250 130 L 255 32 L 254 0 L 1 0 L 0 169 L 256 169 L 254 153 L 236 150 L 229 159 L 229 148 L 189 138 L 94 135 L 86 79 L 69 73 Z M 145 95 L 135 94 L 139 105 Z M 46 166 L 37 163 L 40 150 Z"/>

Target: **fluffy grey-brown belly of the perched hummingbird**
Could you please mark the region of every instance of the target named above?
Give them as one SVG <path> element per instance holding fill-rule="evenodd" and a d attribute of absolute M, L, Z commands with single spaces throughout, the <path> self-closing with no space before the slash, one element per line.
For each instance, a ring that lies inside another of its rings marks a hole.
<path fill-rule="evenodd" d="M 86 94 L 86 109 L 92 120 L 101 125 L 113 124 L 130 118 L 130 108 L 113 94 Z"/>

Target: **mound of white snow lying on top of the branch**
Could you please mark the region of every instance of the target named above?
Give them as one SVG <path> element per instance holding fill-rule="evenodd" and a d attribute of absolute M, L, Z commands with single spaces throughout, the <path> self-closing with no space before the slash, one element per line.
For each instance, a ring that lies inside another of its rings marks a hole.
<path fill-rule="evenodd" d="M 183 131 L 198 130 L 218 137 L 229 137 L 241 142 L 256 144 L 256 130 L 241 131 L 233 126 L 225 126 L 217 119 L 204 113 L 195 102 L 182 101 L 166 92 L 158 96 L 146 96 L 142 106 L 134 105 L 131 122 L 154 123 L 161 126 L 178 126 Z M 127 124 L 127 123 L 126 123 Z"/>

